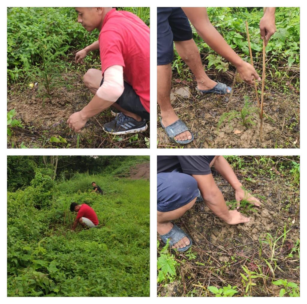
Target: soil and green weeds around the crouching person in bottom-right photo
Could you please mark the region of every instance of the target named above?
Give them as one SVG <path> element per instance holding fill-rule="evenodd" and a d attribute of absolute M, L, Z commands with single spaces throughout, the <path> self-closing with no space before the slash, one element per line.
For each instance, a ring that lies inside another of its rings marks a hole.
<path fill-rule="evenodd" d="M 241 203 L 250 222 L 228 225 L 196 202 L 176 221 L 192 237 L 191 249 L 175 253 L 158 241 L 158 296 L 299 296 L 299 157 L 226 158 L 262 206 Z M 233 189 L 214 169 L 212 174 L 234 209 Z"/>

